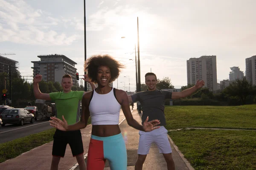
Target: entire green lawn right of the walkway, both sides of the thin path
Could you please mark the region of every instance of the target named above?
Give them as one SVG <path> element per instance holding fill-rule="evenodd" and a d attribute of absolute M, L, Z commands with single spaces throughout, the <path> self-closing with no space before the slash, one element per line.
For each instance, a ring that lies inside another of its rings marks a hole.
<path fill-rule="evenodd" d="M 256 129 L 256 105 L 169 106 L 166 128 Z M 177 130 L 169 136 L 195 170 L 256 170 L 255 130 Z"/>

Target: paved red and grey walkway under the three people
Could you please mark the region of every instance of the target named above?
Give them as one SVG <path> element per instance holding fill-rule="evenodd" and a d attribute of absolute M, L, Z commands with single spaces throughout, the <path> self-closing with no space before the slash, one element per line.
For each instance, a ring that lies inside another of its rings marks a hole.
<path fill-rule="evenodd" d="M 141 115 L 136 110 L 136 105 L 134 105 L 134 111 L 132 112 L 134 119 L 138 122 L 141 122 Z M 122 135 L 124 136 L 127 155 L 128 155 L 128 170 L 134 170 L 134 165 L 137 160 L 137 149 L 139 143 L 139 131 L 135 130 L 133 127 L 130 127 L 126 120 L 125 116 L 120 112 L 120 129 Z M 82 139 L 84 144 L 84 158 L 87 161 L 87 151 L 89 147 L 90 134 L 91 134 L 92 125 L 88 125 L 86 128 L 81 130 Z M 177 147 L 172 144 L 172 156 L 175 161 L 175 170 L 193 170 L 192 167 L 185 159 L 182 158 L 182 154 L 178 151 Z M 176 149 L 175 149 L 176 148 Z M 0 164 L 1 169 L 3 170 L 49 170 L 52 159 L 52 142 L 44 144 L 40 147 L 37 147 L 33 150 L 30 150 L 27 153 L 11 159 L 9 161 L 3 162 Z M 59 170 L 79 170 L 79 167 L 76 163 L 76 158 L 72 156 L 69 145 L 67 145 L 67 150 L 64 158 L 61 158 L 59 164 Z M 163 158 L 162 154 L 159 154 L 158 148 L 155 144 L 152 144 L 149 154 L 145 160 L 143 170 L 167 170 L 166 161 Z M 105 170 L 110 170 L 108 161 L 105 165 Z"/>

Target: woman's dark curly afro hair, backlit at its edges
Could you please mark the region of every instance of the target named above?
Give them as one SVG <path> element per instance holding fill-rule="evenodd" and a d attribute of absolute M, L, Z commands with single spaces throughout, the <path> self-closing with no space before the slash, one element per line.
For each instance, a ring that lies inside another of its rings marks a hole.
<path fill-rule="evenodd" d="M 110 82 L 113 82 L 115 79 L 118 78 L 121 68 L 125 68 L 124 65 L 113 59 L 113 57 L 108 54 L 93 55 L 84 62 L 84 71 L 87 72 L 87 75 L 89 79 L 91 79 L 91 82 L 97 83 L 97 72 L 99 66 L 107 66 L 110 68 Z"/>

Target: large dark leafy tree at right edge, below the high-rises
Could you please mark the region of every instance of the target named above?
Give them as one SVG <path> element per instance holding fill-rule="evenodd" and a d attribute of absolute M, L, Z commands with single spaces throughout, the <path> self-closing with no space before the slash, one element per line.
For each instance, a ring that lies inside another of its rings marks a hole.
<path fill-rule="evenodd" d="M 243 104 L 247 96 L 254 96 L 256 94 L 255 87 L 251 85 L 245 77 L 243 79 L 236 79 L 236 81 L 230 83 L 227 88 L 224 89 L 225 93 L 229 97 L 238 97 Z"/>

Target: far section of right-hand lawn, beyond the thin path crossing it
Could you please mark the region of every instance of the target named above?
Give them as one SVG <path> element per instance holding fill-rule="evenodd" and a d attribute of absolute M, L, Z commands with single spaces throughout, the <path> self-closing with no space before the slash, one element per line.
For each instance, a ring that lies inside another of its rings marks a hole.
<path fill-rule="evenodd" d="M 256 105 L 166 106 L 166 129 L 218 127 L 256 129 Z"/>

